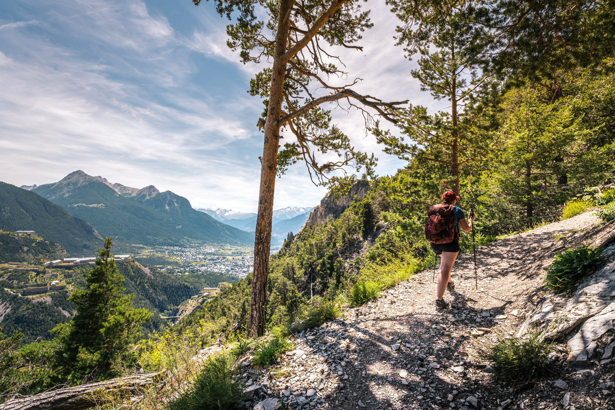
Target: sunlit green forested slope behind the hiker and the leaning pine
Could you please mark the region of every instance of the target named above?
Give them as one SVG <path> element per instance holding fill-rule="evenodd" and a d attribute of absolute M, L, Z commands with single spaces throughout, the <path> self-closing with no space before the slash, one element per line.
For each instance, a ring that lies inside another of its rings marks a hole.
<path fill-rule="evenodd" d="M 528 81 L 507 92 L 490 114 L 499 125 L 483 135 L 493 149 L 460 168 L 460 206 L 477 212 L 478 245 L 555 221 L 566 203 L 582 210 L 613 200 L 604 186 L 615 182 L 615 76 L 578 69 L 559 74 L 558 81 L 557 90 Z M 427 209 L 441 202 L 456 178 L 448 165 L 423 157 L 445 159 L 446 152 L 435 142 L 413 148 L 381 141 L 408 159 L 407 166 L 371 181 L 367 194 L 347 209 L 327 202 L 335 208 L 327 212 L 338 218 L 308 224 L 271 256 L 268 328 L 298 320 L 312 296 L 348 303 L 357 283 L 386 287 L 394 272 L 433 263 L 423 233 Z M 461 232 L 461 246 L 471 250 L 471 234 Z M 249 286 L 250 277 L 181 321 L 177 331 L 194 330 L 200 320 L 218 330 L 243 323 Z"/>

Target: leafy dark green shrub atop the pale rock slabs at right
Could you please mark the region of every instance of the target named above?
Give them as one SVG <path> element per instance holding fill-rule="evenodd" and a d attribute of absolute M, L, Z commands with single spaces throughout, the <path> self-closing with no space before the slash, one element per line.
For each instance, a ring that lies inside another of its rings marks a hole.
<path fill-rule="evenodd" d="M 555 293 L 573 291 L 600 264 L 600 251 L 582 246 L 555 256 L 547 270 L 547 289 Z"/>

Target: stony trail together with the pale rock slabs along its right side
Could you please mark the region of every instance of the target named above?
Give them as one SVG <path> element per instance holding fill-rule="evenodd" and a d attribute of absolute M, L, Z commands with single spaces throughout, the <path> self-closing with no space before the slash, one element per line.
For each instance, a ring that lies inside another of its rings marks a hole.
<path fill-rule="evenodd" d="M 435 309 L 432 270 L 400 283 L 341 320 L 296 335 L 296 349 L 269 371 L 244 376 L 255 410 L 613 409 L 615 244 L 606 266 L 570 298 L 542 290 L 555 254 L 615 243 L 615 221 L 592 212 L 498 240 L 453 269 L 451 308 Z M 501 384 L 476 357 L 475 338 L 540 329 L 557 344 L 552 373 L 523 389 Z M 282 399 L 280 402 L 279 399 Z"/>

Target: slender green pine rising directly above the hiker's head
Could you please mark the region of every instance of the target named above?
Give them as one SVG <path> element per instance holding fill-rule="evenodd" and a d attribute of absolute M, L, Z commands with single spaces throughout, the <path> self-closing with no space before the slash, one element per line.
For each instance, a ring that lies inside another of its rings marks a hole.
<path fill-rule="evenodd" d="M 494 119 L 489 108 L 498 96 L 498 81 L 485 72 L 488 33 L 470 23 L 474 10 L 467 5 L 426 21 L 405 9 L 393 10 L 405 23 L 397 28 L 398 45 L 404 45 L 409 59 L 421 56 L 412 76 L 421 82 L 421 91 L 450 106 L 434 114 L 423 106 L 400 110 L 397 125 L 406 137 L 377 126 L 373 133 L 388 154 L 446 165 L 452 177 L 448 185 L 459 194 L 461 167 L 481 159 L 497 141 L 488 132 Z"/>

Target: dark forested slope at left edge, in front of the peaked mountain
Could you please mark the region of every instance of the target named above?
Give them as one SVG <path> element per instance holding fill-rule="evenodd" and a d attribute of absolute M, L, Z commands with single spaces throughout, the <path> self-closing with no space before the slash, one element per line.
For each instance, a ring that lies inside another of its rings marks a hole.
<path fill-rule="evenodd" d="M 0 229 L 36 231 L 76 257 L 91 256 L 103 243 L 90 224 L 64 208 L 11 184 L 0 182 Z"/>

